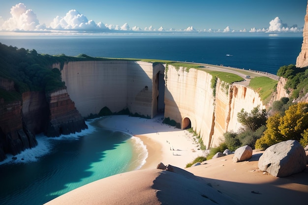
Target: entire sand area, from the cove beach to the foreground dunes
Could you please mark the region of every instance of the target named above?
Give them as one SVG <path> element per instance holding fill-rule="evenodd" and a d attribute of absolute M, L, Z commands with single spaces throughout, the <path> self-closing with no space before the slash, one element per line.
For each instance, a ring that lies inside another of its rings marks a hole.
<path fill-rule="evenodd" d="M 101 126 L 128 132 L 143 141 L 149 153 L 146 163 L 140 170 L 94 181 L 47 205 L 284 205 L 307 201 L 308 168 L 288 177 L 271 176 L 258 169 L 260 151 L 254 151 L 244 162 L 234 163 L 231 154 L 185 168 L 203 151 L 198 150 L 190 133 L 161 120 L 103 118 Z M 156 169 L 159 162 L 175 166 L 171 167 L 173 172 Z"/>

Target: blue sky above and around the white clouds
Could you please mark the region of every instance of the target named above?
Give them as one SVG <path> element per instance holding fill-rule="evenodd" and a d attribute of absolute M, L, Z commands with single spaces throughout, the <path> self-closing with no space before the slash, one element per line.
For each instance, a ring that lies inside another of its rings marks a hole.
<path fill-rule="evenodd" d="M 268 29 L 276 17 L 284 26 L 297 25 L 301 29 L 307 7 L 307 0 L 1 0 L 0 25 L 12 17 L 10 9 L 18 3 L 31 9 L 38 23 L 47 28 L 57 16 L 62 18 L 75 9 L 95 24 L 101 22 L 115 29 L 116 25 L 127 23 L 129 29 L 136 26 L 141 30 L 152 26 L 196 30 L 229 27 L 248 31 Z M 2 26 L 2 30 L 6 28 Z"/>

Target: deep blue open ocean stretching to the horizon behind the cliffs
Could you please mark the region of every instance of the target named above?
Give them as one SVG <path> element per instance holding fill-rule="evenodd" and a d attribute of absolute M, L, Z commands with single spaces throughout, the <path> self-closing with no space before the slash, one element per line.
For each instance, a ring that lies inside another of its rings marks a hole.
<path fill-rule="evenodd" d="M 296 63 L 302 42 L 303 37 L 0 36 L 2 44 L 50 55 L 166 59 L 273 74 Z"/>

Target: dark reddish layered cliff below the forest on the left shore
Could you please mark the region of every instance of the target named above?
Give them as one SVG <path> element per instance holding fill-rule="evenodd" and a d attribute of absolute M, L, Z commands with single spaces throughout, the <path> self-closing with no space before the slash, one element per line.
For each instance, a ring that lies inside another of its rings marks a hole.
<path fill-rule="evenodd" d="M 0 88 L 14 91 L 14 83 L 0 79 Z M 0 161 L 6 153 L 16 155 L 37 145 L 35 135 L 55 137 L 87 128 L 66 90 L 46 94 L 29 91 L 21 100 L 0 98 Z"/>

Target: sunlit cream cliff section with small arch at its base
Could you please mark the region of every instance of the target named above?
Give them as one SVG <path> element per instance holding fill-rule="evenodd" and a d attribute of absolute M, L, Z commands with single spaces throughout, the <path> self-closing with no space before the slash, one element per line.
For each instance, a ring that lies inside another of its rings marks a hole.
<path fill-rule="evenodd" d="M 200 134 L 207 148 L 217 146 L 226 131 L 237 131 L 237 113 L 263 109 L 259 95 L 241 85 L 228 85 L 217 79 L 215 97 L 211 88 L 212 76 L 204 71 L 186 72 L 168 66 L 166 73 L 165 117 L 181 122 L 182 128 L 191 127 Z"/>

